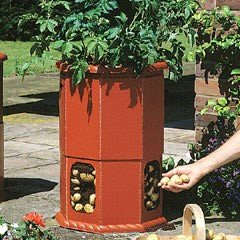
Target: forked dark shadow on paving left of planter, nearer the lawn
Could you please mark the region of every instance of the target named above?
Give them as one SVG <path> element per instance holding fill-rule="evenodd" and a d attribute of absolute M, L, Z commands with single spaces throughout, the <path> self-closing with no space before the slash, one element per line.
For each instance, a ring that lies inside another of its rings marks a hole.
<path fill-rule="evenodd" d="M 3 108 L 4 116 L 19 113 L 58 116 L 58 96 L 58 92 L 47 92 L 20 96 L 24 98 L 36 98 L 41 100 L 36 102 L 34 101 L 5 106 Z"/>

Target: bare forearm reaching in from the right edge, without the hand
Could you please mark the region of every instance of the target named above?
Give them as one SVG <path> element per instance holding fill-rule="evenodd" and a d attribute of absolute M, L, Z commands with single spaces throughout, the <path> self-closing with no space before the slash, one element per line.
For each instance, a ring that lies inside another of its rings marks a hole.
<path fill-rule="evenodd" d="M 216 151 L 199 160 L 197 165 L 200 167 L 203 175 L 206 175 L 238 158 L 240 158 L 240 131 Z"/>

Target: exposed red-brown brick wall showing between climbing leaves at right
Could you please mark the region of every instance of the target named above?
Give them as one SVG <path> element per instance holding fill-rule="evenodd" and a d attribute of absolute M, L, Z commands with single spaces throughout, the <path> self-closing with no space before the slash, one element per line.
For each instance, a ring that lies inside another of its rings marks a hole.
<path fill-rule="evenodd" d="M 206 9 L 214 8 L 215 6 L 228 5 L 232 10 L 240 14 L 240 0 L 207 0 L 202 6 Z M 208 66 L 211 63 L 207 64 Z M 203 70 L 204 69 L 204 70 Z M 201 63 L 196 65 L 196 81 L 195 81 L 195 132 L 196 141 L 202 138 L 202 129 L 211 121 L 216 120 L 216 114 L 210 112 L 203 116 L 200 115 L 201 109 L 204 107 L 208 99 L 217 99 L 223 97 L 227 92 L 228 86 L 226 81 L 221 81 L 218 76 L 213 76 L 207 73 L 205 67 Z M 236 121 L 236 126 L 240 128 L 240 119 Z"/>

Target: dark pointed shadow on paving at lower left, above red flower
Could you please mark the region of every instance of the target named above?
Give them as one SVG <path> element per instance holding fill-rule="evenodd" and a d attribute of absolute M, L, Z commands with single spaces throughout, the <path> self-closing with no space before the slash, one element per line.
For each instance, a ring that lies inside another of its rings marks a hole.
<path fill-rule="evenodd" d="M 56 182 L 40 178 L 5 178 L 2 201 L 18 199 L 39 192 L 48 192 L 56 185 Z"/>

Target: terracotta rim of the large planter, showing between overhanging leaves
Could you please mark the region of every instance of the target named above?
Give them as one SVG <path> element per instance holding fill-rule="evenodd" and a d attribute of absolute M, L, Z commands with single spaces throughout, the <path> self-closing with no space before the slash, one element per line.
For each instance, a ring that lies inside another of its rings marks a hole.
<path fill-rule="evenodd" d="M 63 62 L 58 61 L 56 63 L 56 67 L 60 70 L 62 73 L 68 73 L 71 72 L 71 65 Z M 156 62 L 152 65 L 149 65 L 143 70 L 143 74 L 145 73 L 154 73 L 158 71 L 162 71 L 163 69 L 167 69 L 168 65 L 166 62 Z M 109 68 L 102 65 L 89 65 L 88 66 L 89 73 L 93 74 L 134 74 L 132 67 L 118 67 L 118 68 Z"/>

